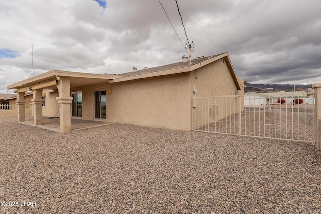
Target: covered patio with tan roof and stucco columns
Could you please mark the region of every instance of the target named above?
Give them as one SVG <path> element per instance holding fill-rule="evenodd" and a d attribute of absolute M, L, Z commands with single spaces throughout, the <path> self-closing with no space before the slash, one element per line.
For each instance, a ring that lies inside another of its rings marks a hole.
<path fill-rule="evenodd" d="M 73 129 L 77 129 L 79 124 L 89 124 L 88 122 L 74 121 L 72 123 L 71 118 L 71 103 L 73 97 L 71 97 L 70 88 L 99 84 L 108 82 L 108 80 L 116 79 L 121 76 L 117 75 L 103 75 L 103 74 L 89 74 L 80 72 L 70 72 L 70 71 L 59 71 L 52 70 L 44 74 L 37 75 L 35 77 L 28 78 L 26 80 L 17 82 L 15 84 L 9 85 L 8 89 L 16 89 L 17 93 L 17 112 L 18 112 L 18 122 L 25 122 L 25 92 L 32 91 L 33 99 L 32 110 L 34 119 L 32 122 L 26 121 L 26 124 L 32 123 L 34 126 L 50 127 L 59 130 L 59 132 L 68 132 Z M 43 120 L 42 114 L 42 92 L 44 89 L 58 90 L 58 97 L 56 98 L 59 105 L 59 127 L 52 123 L 53 121 Z M 95 123 L 95 121 L 91 121 Z M 97 121 L 101 122 L 101 121 Z M 103 122 L 104 123 L 104 122 Z M 78 124 L 78 125 L 77 125 Z M 98 124 L 98 123 L 97 123 Z M 93 124 L 92 124 L 93 125 Z"/>

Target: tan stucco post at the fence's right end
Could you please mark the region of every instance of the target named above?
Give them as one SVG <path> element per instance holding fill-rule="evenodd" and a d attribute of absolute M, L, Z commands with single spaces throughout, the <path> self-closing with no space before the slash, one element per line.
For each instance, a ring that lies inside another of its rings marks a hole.
<path fill-rule="evenodd" d="M 315 90 L 315 147 L 321 150 L 321 83 L 314 83 L 312 87 Z"/>

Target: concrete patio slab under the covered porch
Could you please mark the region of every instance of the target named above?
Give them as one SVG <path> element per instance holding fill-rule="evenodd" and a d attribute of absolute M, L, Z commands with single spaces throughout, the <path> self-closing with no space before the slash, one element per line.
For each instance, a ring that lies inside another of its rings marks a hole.
<path fill-rule="evenodd" d="M 22 124 L 26 125 L 34 125 L 33 120 L 21 122 Z M 86 128 L 93 128 L 97 126 L 105 126 L 113 124 L 112 122 L 106 122 L 106 121 L 97 121 L 97 120 L 81 120 L 81 119 L 74 119 L 71 118 L 71 130 L 79 130 L 79 129 L 86 129 Z M 59 118 L 50 118 L 50 119 L 43 119 L 43 124 L 38 125 L 37 127 L 48 129 L 51 131 L 60 132 L 59 127 Z"/>

